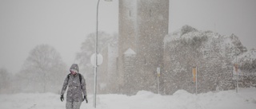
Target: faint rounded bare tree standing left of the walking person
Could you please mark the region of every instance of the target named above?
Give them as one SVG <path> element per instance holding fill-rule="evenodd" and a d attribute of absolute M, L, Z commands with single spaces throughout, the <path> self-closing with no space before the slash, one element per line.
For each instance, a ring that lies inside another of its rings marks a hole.
<path fill-rule="evenodd" d="M 66 64 L 56 49 L 38 45 L 30 51 L 18 76 L 22 91 L 58 92 L 67 73 Z"/>

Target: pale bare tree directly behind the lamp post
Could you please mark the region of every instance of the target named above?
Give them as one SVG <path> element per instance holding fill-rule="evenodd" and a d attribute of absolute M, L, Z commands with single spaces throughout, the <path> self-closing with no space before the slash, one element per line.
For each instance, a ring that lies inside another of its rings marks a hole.
<path fill-rule="evenodd" d="M 81 73 L 86 76 L 88 91 L 92 92 L 94 85 L 94 67 L 90 63 L 90 56 L 95 53 L 95 33 L 90 33 L 86 40 L 82 42 L 81 52 L 77 53 L 76 60 L 79 62 Z M 105 32 L 98 32 L 98 53 L 102 53 L 107 45 L 117 38 L 117 35 L 111 35 Z"/>

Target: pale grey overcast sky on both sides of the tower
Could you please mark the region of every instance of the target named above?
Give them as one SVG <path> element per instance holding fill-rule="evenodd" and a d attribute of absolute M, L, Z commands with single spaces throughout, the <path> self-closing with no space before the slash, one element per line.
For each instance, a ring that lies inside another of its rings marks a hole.
<path fill-rule="evenodd" d="M 19 72 L 36 45 L 53 46 L 69 66 L 96 30 L 97 0 L 0 0 L 0 68 Z M 256 0 L 170 0 L 169 33 L 182 25 L 234 33 L 256 48 Z M 99 6 L 99 30 L 118 33 L 118 0 Z"/>

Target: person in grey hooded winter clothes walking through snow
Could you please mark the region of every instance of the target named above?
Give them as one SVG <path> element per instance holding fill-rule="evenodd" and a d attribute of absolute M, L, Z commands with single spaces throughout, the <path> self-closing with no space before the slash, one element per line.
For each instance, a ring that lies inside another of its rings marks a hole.
<path fill-rule="evenodd" d="M 86 80 L 79 73 L 78 64 L 72 64 L 70 67 L 70 74 L 66 76 L 61 91 L 61 101 L 64 100 L 64 93 L 66 94 L 66 109 L 79 109 L 82 101 L 87 100 Z"/>

